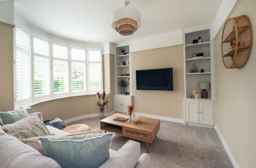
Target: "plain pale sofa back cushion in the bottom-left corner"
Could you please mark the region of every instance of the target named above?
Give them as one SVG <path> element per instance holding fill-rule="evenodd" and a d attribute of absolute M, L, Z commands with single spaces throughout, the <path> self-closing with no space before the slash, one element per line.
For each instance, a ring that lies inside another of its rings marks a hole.
<path fill-rule="evenodd" d="M 53 159 L 9 135 L 0 136 L 0 165 L 1 168 L 61 168 Z"/>

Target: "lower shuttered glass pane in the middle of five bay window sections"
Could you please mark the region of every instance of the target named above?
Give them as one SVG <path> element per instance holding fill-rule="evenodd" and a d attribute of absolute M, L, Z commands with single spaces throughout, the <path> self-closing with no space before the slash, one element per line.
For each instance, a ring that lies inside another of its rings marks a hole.
<path fill-rule="evenodd" d="M 53 60 L 53 91 L 68 92 L 68 62 Z"/>

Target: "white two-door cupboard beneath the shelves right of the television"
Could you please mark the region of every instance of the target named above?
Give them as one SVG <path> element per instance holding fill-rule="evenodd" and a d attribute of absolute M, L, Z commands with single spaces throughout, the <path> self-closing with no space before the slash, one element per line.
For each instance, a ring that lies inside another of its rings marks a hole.
<path fill-rule="evenodd" d="M 186 122 L 214 125 L 214 101 L 186 99 Z"/>

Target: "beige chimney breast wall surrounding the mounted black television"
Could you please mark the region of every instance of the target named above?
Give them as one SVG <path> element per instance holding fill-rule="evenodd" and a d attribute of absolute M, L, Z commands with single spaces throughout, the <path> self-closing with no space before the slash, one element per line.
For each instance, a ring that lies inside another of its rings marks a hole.
<path fill-rule="evenodd" d="M 183 118 L 183 46 L 132 52 L 132 94 L 135 112 Z M 136 90 L 136 70 L 173 68 L 174 91 Z"/>

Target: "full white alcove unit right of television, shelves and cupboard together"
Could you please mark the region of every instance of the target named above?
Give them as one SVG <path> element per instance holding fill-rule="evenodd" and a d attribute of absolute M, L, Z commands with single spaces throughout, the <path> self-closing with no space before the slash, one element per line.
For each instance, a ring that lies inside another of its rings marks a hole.
<path fill-rule="evenodd" d="M 193 44 L 193 40 L 201 36 L 203 42 Z M 183 71 L 184 98 L 183 124 L 195 126 L 214 126 L 214 57 L 212 44 L 212 26 L 183 30 Z M 204 53 L 203 57 L 192 57 L 192 53 Z M 190 72 L 193 65 L 198 72 Z M 204 72 L 201 73 L 201 69 Z M 208 98 L 201 98 L 200 82 L 210 82 Z M 196 90 L 199 98 L 190 98 L 192 90 Z"/>

